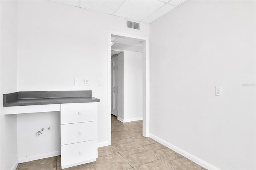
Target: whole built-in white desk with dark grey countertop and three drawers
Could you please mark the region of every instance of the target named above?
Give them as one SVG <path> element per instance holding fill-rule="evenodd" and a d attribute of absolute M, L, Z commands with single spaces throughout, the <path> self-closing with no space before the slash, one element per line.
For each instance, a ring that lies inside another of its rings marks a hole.
<path fill-rule="evenodd" d="M 4 94 L 4 114 L 60 111 L 62 169 L 98 157 L 97 102 L 92 91 L 21 91 Z"/>

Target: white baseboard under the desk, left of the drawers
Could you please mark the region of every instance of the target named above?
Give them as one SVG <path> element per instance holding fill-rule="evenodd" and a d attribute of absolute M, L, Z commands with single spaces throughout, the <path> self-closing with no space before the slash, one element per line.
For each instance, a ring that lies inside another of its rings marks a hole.
<path fill-rule="evenodd" d="M 47 152 L 47 153 L 43 153 L 43 154 L 24 156 L 24 157 L 19 157 L 18 158 L 18 163 L 29 162 L 29 161 L 32 161 L 32 160 L 49 158 L 49 157 L 58 156 L 58 155 L 60 155 L 60 150 L 54 151 L 54 152 Z"/>

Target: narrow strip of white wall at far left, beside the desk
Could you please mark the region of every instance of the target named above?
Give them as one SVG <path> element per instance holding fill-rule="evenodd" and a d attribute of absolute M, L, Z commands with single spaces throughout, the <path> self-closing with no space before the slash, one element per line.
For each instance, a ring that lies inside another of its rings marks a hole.
<path fill-rule="evenodd" d="M 0 4 L 0 169 L 7 170 L 15 169 L 18 164 L 17 118 L 3 112 L 3 94 L 15 92 L 17 85 L 17 1 L 0 1 Z"/>

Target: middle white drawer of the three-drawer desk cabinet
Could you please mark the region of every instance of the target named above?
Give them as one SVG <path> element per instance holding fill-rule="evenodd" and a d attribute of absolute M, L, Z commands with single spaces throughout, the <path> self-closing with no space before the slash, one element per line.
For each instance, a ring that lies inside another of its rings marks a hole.
<path fill-rule="evenodd" d="M 61 145 L 88 140 L 96 140 L 97 122 L 84 122 L 60 125 Z"/>

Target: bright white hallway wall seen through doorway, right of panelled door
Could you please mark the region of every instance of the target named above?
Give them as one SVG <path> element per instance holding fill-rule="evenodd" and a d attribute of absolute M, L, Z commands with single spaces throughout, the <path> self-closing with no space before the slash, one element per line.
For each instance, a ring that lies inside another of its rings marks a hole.
<path fill-rule="evenodd" d="M 124 122 L 142 120 L 142 53 L 124 51 Z"/>

